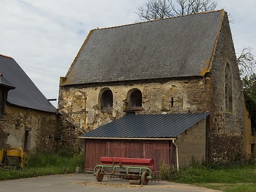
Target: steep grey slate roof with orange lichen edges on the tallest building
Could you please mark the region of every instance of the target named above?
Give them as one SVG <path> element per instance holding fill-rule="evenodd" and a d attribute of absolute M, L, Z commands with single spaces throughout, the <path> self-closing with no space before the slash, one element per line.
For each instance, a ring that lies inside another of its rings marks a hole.
<path fill-rule="evenodd" d="M 62 85 L 204 76 L 224 13 L 91 30 Z"/>

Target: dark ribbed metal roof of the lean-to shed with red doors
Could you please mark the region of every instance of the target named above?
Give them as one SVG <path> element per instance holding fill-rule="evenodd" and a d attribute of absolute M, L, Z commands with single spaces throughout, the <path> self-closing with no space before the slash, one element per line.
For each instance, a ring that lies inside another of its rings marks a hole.
<path fill-rule="evenodd" d="M 210 113 L 126 115 L 80 138 L 177 138 Z"/>

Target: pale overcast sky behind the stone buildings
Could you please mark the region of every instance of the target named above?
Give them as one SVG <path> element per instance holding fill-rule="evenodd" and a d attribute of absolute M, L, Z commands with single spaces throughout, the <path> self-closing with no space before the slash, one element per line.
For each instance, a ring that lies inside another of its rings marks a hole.
<path fill-rule="evenodd" d="M 137 7 L 147 1 L 0 0 L 0 54 L 15 59 L 47 99 L 58 100 L 59 79 L 90 30 L 138 22 Z M 244 46 L 256 55 L 256 1 L 216 2 L 232 20 L 236 55 Z"/>

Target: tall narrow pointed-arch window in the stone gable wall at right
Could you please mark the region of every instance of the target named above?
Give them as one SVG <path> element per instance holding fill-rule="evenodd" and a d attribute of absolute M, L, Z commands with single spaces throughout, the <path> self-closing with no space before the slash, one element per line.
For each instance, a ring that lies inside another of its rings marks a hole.
<path fill-rule="evenodd" d="M 233 110 L 233 91 L 232 91 L 232 73 L 227 63 L 225 68 L 225 106 L 226 112 L 232 112 Z"/>

